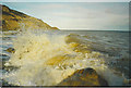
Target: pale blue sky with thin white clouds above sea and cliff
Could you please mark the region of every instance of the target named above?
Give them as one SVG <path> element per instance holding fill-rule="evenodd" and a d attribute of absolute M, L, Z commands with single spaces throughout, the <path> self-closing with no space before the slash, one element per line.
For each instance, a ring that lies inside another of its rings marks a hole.
<path fill-rule="evenodd" d="M 2 4 L 60 29 L 128 30 L 129 0 L 110 1 L 7 0 Z"/>

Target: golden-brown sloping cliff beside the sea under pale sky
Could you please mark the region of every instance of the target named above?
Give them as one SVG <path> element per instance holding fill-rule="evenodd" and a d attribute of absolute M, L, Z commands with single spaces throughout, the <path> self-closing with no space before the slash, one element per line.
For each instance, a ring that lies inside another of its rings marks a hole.
<path fill-rule="evenodd" d="M 0 5 L 0 11 L 2 11 L 2 25 L 0 29 L 2 30 L 17 30 L 17 29 L 58 29 L 57 27 L 51 27 L 48 24 L 44 23 L 41 20 L 28 16 L 22 12 L 11 10 L 5 5 Z M 0 15 L 0 16 L 1 16 Z"/>

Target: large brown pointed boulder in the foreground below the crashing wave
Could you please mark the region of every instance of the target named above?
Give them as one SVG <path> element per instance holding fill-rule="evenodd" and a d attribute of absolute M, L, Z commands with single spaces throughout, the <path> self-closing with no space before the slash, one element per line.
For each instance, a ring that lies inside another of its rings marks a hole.
<path fill-rule="evenodd" d="M 58 86 L 108 86 L 108 83 L 93 68 L 78 70 Z"/>

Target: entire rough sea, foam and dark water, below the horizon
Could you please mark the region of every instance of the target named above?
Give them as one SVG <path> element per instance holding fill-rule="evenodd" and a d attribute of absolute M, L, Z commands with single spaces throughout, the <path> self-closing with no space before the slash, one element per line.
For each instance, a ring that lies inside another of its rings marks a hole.
<path fill-rule="evenodd" d="M 4 32 L 1 78 L 16 86 L 56 86 L 76 70 L 92 67 L 109 86 L 130 86 L 129 37 L 128 32 Z"/>

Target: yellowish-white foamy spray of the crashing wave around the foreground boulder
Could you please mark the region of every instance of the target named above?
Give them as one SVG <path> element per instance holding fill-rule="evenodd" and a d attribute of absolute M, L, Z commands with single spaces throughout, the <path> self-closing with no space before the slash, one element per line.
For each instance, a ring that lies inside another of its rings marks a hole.
<path fill-rule="evenodd" d="M 17 86 L 56 86 L 76 70 L 92 67 L 109 86 L 123 85 L 124 78 L 114 74 L 105 64 L 105 54 L 95 51 L 83 53 L 78 50 L 76 42 L 67 43 L 66 40 L 66 35 L 48 32 L 28 30 L 17 35 L 13 42 L 15 53 L 5 66 L 19 68 L 4 74 L 3 79 Z"/>

